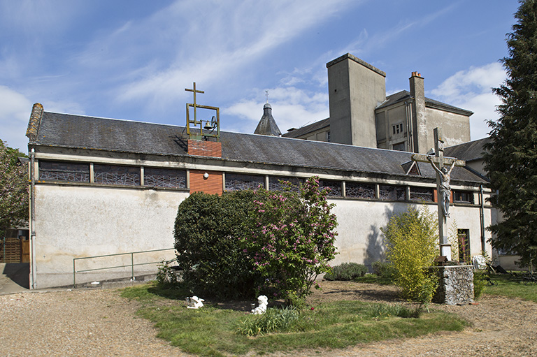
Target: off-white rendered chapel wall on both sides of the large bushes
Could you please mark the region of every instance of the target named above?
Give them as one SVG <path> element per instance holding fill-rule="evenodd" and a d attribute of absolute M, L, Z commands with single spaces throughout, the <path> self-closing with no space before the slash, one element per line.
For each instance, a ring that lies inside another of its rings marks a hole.
<path fill-rule="evenodd" d="M 185 191 L 155 191 L 117 187 L 36 186 L 36 288 L 73 284 L 73 258 L 173 248 L 173 224 Z M 407 210 L 409 203 L 331 198 L 338 219 L 332 265 L 356 262 L 371 265 L 385 258 L 381 227 L 392 214 Z M 420 205 L 416 204 L 419 208 Z M 427 205 L 436 212 L 436 203 Z M 470 231 L 471 255 L 481 252 L 479 207 L 454 205 L 450 209 L 457 228 Z M 490 225 L 485 208 L 485 226 Z M 453 220 L 452 220 L 453 221 Z M 448 223 L 451 224 L 451 223 Z M 487 232 L 487 239 L 489 233 Z M 489 254 L 490 247 L 487 244 Z M 161 261 L 173 250 L 137 257 Z M 456 258 L 457 256 L 454 256 Z M 77 270 L 128 265 L 130 256 L 78 261 Z M 148 266 L 155 272 L 155 266 Z M 139 271 L 139 268 L 138 268 Z M 102 273 L 80 273 L 77 283 L 129 276 L 130 268 Z"/>

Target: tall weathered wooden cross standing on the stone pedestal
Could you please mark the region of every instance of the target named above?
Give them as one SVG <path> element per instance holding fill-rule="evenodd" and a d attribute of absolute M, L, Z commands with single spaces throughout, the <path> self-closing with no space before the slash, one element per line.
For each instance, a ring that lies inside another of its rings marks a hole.
<path fill-rule="evenodd" d="M 438 170 L 442 170 L 443 166 L 451 166 L 454 164 L 454 166 L 466 166 L 466 162 L 464 160 L 457 160 L 454 157 L 445 157 L 444 156 L 444 139 L 441 133 L 440 128 L 434 129 L 434 156 L 431 155 L 422 155 L 422 154 L 414 154 L 412 156 L 413 161 L 420 161 L 420 162 L 427 162 L 431 163 L 431 165 L 436 164 L 438 167 Z M 448 176 L 449 177 L 449 176 Z M 438 201 L 438 238 L 440 240 L 440 255 L 447 257 L 447 260 L 451 260 L 451 245 L 450 242 L 447 240 L 448 233 L 447 233 L 447 218 L 446 215 L 443 213 L 443 201 L 440 197 L 441 192 L 441 177 L 440 173 L 436 173 L 436 201 Z M 449 205 L 449 202 L 447 202 L 447 205 Z"/>

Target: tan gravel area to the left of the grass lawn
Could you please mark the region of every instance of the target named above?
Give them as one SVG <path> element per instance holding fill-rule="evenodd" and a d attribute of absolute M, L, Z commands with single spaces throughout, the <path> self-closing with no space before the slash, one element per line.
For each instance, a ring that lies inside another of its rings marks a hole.
<path fill-rule="evenodd" d="M 0 296 L 1 356 L 187 356 L 114 290 Z"/>

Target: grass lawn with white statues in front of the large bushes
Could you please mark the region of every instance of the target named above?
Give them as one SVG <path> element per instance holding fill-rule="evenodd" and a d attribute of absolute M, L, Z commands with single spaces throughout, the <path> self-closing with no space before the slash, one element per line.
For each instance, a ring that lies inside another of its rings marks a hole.
<path fill-rule="evenodd" d="M 133 286 L 122 296 L 138 300 L 138 314 L 155 323 L 158 337 L 183 351 L 200 356 L 266 354 L 301 349 L 342 349 L 360 343 L 408 338 L 441 330 L 462 330 L 466 323 L 453 314 L 424 313 L 420 318 L 394 316 L 388 305 L 360 301 L 320 303 L 304 309 L 285 332 L 255 337 L 238 330 L 247 315 L 206 303 L 201 309 L 187 309 L 187 292 L 159 289 L 156 284 Z M 313 307 L 313 309 L 311 309 Z"/>

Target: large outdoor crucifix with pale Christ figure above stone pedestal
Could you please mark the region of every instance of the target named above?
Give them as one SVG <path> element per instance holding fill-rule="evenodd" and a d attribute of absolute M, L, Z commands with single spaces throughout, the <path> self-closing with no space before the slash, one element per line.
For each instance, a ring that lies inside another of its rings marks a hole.
<path fill-rule="evenodd" d="M 431 163 L 436 171 L 436 196 L 438 201 L 438 239 L 440 240 L 440 255 L 451 260 L 451 245 L 447 240 L 447 219 L 450 218 L 451 171 L 454 166 L 466 166 L 463 160 L 444 156 L 444 139 L 440 128 L 434 129 L 434 156 L 414 154 L 413 161 Z"/>

